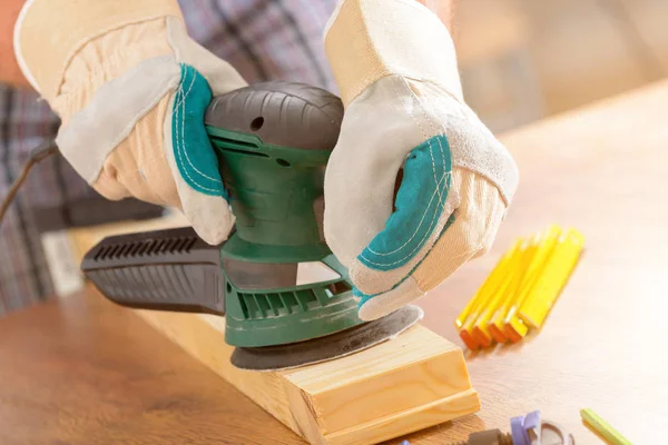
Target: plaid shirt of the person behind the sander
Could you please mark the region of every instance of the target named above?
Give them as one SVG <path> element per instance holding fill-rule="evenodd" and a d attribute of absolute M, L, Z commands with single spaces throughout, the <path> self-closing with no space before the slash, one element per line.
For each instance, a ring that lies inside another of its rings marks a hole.
<path fill-rule="evenodd" d="M 335 0 L 179 0 L 190 36 L 248 83 L 303 81 L 335 91 L 322 32 Z M 33 92 L 0 85 L 0 196 L 58 119 Z M 32 209 L 94 195 L 62 158 L 36 167 L 0 224 L 0 316 L 53 293 Z M 112 216 L 110 216 L 112 217 Z"/>

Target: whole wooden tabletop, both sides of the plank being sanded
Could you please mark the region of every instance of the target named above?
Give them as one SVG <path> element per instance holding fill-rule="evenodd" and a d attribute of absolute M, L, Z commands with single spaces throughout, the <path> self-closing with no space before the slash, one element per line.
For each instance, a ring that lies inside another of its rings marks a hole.
<path fill-rule="evenodd" d="M 573 226 L 587 251 L 542 332 L 468 354 L 478 415 L 416 433 L 411 444 L 508 429 L 510 417 L 534 409 L 578 444 L 600 443 L 581 424 L 582 407 L 633 443 L 656 443 L 668 418 L 668 82 L 502 141 L 522 176 L 513 207 L 492 251 L 421 301 L 424 324 L 459 343 L 455 315 L 517 237 Z M 1 444 L 303 443 L 90 290 L 0 320 L 0 363 Z"/>

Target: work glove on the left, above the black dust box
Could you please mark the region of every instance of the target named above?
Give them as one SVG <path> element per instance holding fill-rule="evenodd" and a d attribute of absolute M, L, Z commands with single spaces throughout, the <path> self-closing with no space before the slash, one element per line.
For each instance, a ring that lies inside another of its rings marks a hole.
<path fill-rule="evenodd" d="M 179 208 L 205 241 L 227 238 L 204 112 L 246 83 L 188 37 L 176 0 L 28 1 L 14 52 L 62 120 L 60 151 L 98 192 Z"/>

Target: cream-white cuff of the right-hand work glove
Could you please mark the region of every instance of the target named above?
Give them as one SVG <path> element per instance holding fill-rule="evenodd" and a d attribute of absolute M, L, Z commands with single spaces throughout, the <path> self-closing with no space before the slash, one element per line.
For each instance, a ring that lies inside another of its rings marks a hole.
<path fill-rule="evenodd" d="M 434 82 L 463 101 L 452 38 L 415 0 L 342 0 L 325 29 L 325 50 L 345 106 L 393 75 Z"/>

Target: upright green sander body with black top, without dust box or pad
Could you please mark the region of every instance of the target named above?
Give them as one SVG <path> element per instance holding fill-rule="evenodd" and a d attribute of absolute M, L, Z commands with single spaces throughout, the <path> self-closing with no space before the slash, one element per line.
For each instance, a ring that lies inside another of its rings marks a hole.
<path fill-rule="evenodd" d="M 323 235 L 323 182 L 341 100 L 317 88 L 261 83 L 215 98 L 205 117 L 236 216 L 220 247 L 226 340 L 281 345 L 361 324 L 346 269 Z M 337 278 L 296 285 L 298 264 Z"/>

